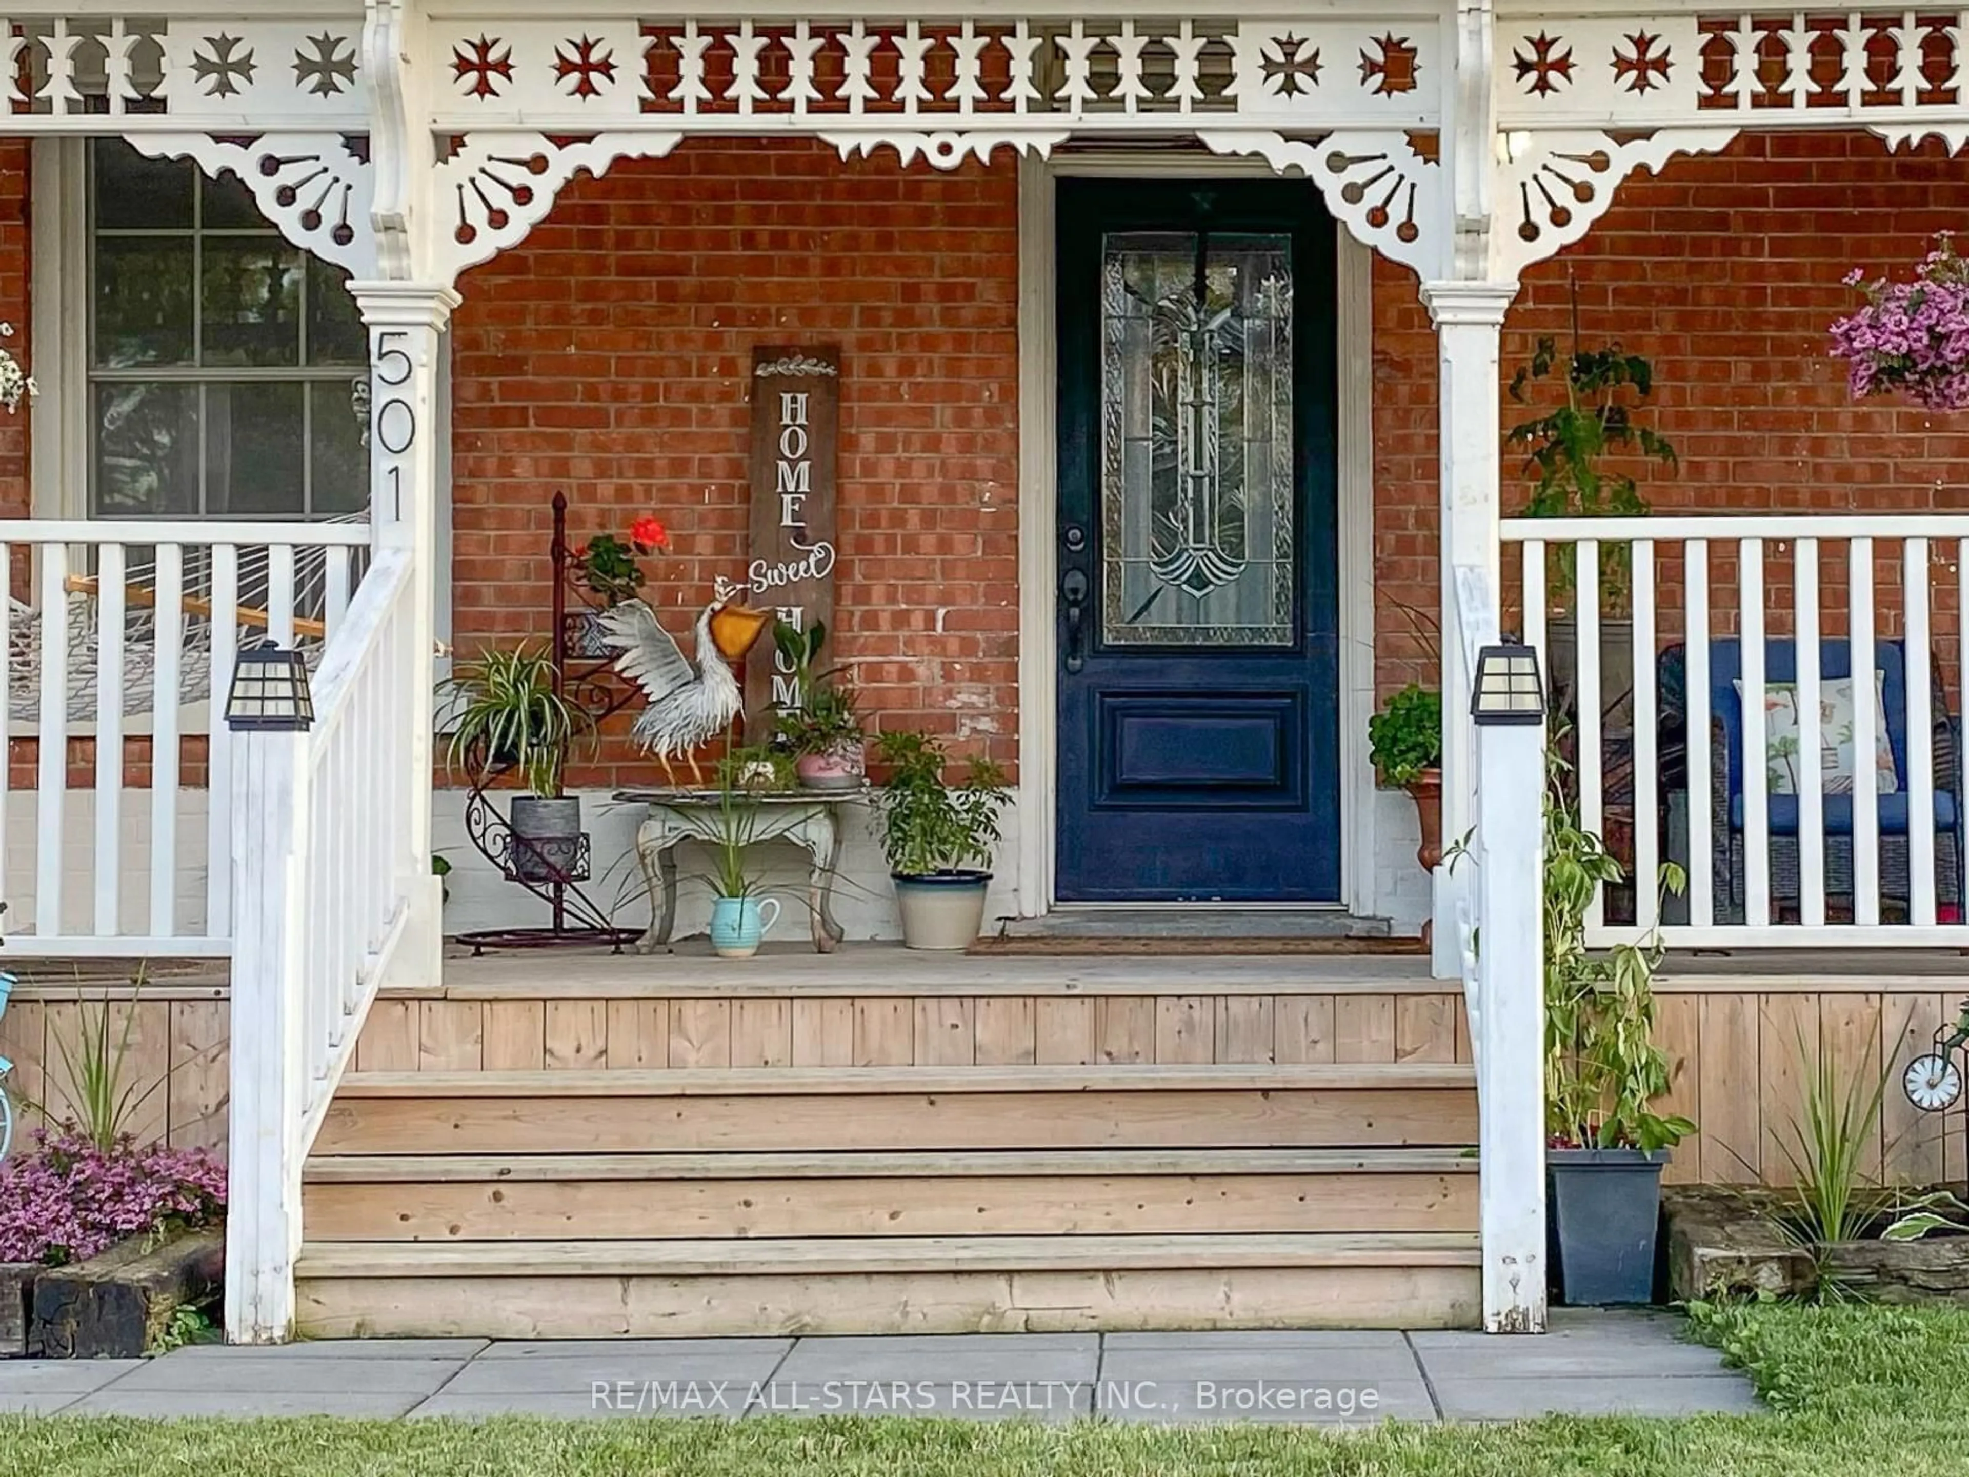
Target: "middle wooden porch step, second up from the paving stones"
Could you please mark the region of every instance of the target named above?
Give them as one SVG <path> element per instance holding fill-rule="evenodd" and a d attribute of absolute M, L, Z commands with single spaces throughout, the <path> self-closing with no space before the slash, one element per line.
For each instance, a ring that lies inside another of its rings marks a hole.
<path fill-rule="evenodd" d="M 335 1156 L 321 1241 L 1471 1231 L 1443 1150 Z"/>

